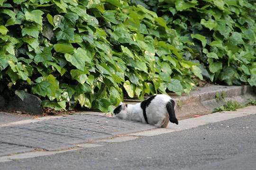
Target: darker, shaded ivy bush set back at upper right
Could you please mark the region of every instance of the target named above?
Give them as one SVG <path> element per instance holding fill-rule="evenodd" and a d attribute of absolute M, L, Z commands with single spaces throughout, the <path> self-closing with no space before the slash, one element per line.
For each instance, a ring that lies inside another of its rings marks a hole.
<path fill-rule="evenodd" d="M 202 75 L 227 85 L 256 85 L 255 0 L 133 0 L 176 30 L 198 60 Z M 145 3 L 144 3 L 145 2 Z"/>

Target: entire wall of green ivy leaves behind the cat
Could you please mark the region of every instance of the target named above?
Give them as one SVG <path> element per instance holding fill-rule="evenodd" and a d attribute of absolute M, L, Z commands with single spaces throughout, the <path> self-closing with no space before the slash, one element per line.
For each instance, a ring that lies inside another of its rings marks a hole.
<path fill-rule="evenodd" d="M 255 9 L 245 0 L 0 0 L 0 92 L 111 111 L 123 93 L 189 93 L 193 76 L 256 85 Z"/>

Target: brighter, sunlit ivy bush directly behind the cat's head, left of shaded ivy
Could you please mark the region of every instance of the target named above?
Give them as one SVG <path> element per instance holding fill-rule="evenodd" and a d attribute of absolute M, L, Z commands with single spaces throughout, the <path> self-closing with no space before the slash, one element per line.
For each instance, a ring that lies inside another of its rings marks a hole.
<path fill-rule="evenodd" d="M 188 58 L 189 36 L 179 24 L 170 28 L 167 17 L 127 0 L 0 0 L 0 92 L 22 98 L 27 91 L 56 110 L 80 104 L 101 111 L 111 111 L 123 93 L 189 93 L 201 66 Z M 251 43 L 250 34 L 243 36 Z M 250 67 L 243 66 L 245 77 Z"/>

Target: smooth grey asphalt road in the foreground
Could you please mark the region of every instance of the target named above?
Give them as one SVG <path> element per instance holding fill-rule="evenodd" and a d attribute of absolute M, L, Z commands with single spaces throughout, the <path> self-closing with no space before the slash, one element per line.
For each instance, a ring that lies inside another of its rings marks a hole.
<path fill-rule="evenodd" d="M 73 152 L 1 162 L 0 170 L 254 170 L 256 115 Z"/>

